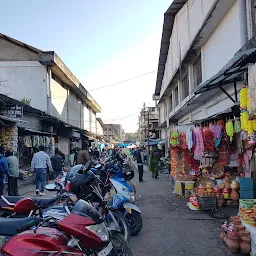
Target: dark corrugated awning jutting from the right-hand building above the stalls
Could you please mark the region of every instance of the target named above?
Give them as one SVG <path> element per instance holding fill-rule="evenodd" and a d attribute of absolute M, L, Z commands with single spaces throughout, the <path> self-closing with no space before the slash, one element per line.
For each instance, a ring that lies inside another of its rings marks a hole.
<path fill-rule="evenodd" d="M 255 62 L 256 48 L 238 52 L 217 74 L 199 85 L 194 91 L 195 94 L 203 93 L 216 87 L 219 87 L 226 94 L 222 86 L 241 80 L 247 64 Z"/>

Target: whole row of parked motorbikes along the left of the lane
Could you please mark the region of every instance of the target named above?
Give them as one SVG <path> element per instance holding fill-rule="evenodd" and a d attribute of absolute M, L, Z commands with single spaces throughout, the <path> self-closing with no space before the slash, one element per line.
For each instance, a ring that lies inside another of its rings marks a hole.
<path fill-rule="evenodd" d="M 48 191 L 52 198 L 1 196 L 0 255 L 131 256 L 142 228 L 125 156 L 76 165 Z"/>

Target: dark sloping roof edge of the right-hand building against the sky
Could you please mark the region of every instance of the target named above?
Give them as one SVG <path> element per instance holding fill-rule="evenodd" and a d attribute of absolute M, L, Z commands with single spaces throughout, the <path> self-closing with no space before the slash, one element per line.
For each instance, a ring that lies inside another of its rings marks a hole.
<path fill-rule="evenodd" d="M 187 0 L 174 0 L 164 14 L 164 24 L 160 45 L 155 95 L 160 95 L 175 15 L 179 12 L 179 10 L 186 2 Z"/>

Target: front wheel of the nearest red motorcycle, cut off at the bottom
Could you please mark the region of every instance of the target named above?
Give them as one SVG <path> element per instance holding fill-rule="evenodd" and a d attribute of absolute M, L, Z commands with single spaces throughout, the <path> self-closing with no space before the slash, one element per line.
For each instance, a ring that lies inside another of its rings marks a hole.
<path fill-rule="evenodd" d="M 110 241 L 113 244 L 113 250 L 109 256 L 133 256 L 132 249 L 124 236 L 116 231 L 110 232 Z"/>

